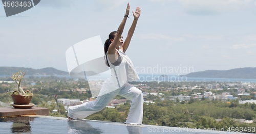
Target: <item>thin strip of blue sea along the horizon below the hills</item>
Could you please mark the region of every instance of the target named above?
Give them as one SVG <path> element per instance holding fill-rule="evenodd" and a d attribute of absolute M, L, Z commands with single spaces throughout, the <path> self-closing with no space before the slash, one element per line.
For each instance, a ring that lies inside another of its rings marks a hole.
<path fill-rule="evenodd" d="M 185 75 L 167 75 L 161 74 L 138 74 L 140 79 L 138 82 L 239 82 L 239 83 L 256 83 L 256 79 L 246 79 L 246 78 L 208 78 L 208 77 L 186 77 Z M 34 77 L 48 77 L 50 75 L 34 75 Z M 106 78 L 110 77 L 110 74 L 100 74 L 90 77 L 72 77 L 69 75 L 55 75 L 56 77 L 62 78 L 84 78 L 88 81 L 104 81 Z M 9 75 L 0 75 L 0 77 L 10 77 Z M 26 75 L 30 77 L 30 75 Z"/>

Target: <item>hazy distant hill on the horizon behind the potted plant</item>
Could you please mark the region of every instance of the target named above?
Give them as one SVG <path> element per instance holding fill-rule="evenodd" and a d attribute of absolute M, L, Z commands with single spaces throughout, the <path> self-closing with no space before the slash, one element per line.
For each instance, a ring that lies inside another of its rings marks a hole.
<path fill-rule="evenodd" d="M 26 72 L 26 75 L 69 75 L 68 72 L 60 71 L 52 67 L 32 69 L 25 67 L 0 67 L 0 75 L 12 75 L 18 71 Z"/>

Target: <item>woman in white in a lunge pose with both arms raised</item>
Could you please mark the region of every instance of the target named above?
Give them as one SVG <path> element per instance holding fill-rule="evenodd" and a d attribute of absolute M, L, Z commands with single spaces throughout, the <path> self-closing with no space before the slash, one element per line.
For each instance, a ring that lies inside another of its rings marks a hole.
<path fill-rule="evenodd" d="M 125 51 L 130 44 L 140 16 L 140 8 L 137 7 L 136 11 L 133 12 L 134 20 L 126 39 L 123 42 L 122 32 L 129 12 L 130 5 L 128 3 L 126 13 L 118 30 L 111 32 L 109 39 L 107 39 L 104 44 L 106 65 L 111 68 L 111 77 L 106 79 L 102 84 L 100 93 L 95 101 L 70 106 L 68 109 L 69 119 L 83 119 L 91 114 L 99 112 L 105 108 L 116 95 L 120 95 L 132 100 L 130 113 L 124 123 L 142 124 L 143 94 L 138 88 L 127 83 L 128 81 L 136 81 L 139 79 L 139 76 L 134 70 L 130 58 L 125 55 Z"/>

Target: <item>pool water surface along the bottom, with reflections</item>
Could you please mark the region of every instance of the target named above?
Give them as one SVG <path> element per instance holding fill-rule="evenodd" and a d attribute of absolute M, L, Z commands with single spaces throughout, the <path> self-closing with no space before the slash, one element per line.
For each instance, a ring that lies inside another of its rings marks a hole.
<path fill-rule="evenodd" d="M 117 122 L 95 120 L 68 120 L 51 116 L 22 116 L 0 118 L 0 133 L 109 133 L 109 134 L 149 134 L 149 133 L 239 133 L 227 131 L 202 131 L 199 129 L 177 128 L 154 125 L 129 125 Z"/>

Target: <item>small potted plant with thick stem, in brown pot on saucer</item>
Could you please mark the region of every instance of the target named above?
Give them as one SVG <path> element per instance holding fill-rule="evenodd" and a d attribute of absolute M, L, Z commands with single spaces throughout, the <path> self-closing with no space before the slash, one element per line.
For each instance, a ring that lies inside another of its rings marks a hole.
<path fill-rule="evenodd" d="M 20 73 L 20 74 L 19 74 Z M 17 83 L 18 87 L 12 93 L 13 107 L 14 108 L 32 108 L 34 104 L 30 104 L 33 94 L 31 91 L 27 90 L 24 92 L 20 83 L 23 80 L 26 72 L 19 71 L 11 76 L 12 80 Z"/>

